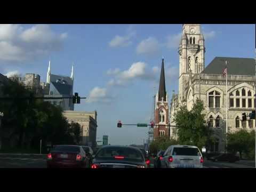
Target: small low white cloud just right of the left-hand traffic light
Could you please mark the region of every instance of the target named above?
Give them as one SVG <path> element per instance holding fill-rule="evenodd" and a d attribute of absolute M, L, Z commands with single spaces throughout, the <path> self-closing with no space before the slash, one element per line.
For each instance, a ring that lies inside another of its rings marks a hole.
<path fill-rule="evenodd" d="M 106 88 L 94 87 L 89 94 L 89 98 L 86 102 L 111 102 L 113 97 L 111 97 Z"/>

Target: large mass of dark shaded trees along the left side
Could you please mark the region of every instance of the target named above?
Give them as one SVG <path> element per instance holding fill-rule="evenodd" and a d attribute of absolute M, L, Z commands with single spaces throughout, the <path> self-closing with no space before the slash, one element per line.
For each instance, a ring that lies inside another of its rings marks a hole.
<path fill-rule="evenodd" d="M 39 143 L 52 145 L 74 144 L 69 133 L 69 125 L 61 109 L 43 100 L 24 100 L 19 98 L 33 95 L 17 81 L 10 81 L 0 87 L 2 97 L 14 97 L 14 100 L 0 102 L 0 111 L 4 113 L 0 127 L 2 149 L 19 148 L 39 151 Z"/>

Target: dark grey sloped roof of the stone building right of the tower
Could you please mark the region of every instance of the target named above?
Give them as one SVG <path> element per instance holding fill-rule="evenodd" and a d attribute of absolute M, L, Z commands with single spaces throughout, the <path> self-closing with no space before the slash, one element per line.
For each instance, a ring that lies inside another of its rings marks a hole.
<path fill-rule="evenodd" d="M 255 76 L 255 59 L 230 57 L 215 57 L 202 71 L 202 74 L 222 75 L 226 60 L 228 63 L 228 75 Z"/>

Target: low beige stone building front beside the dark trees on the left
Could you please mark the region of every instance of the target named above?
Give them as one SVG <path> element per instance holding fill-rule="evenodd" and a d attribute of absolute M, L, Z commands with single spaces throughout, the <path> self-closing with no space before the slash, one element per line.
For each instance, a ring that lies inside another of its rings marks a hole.
<path fill-rule="evenodd" d="M 68 123 L 78 123 L 82 127 L 82 145 L 96 146 L 97 111 L 63 111 Z"/>

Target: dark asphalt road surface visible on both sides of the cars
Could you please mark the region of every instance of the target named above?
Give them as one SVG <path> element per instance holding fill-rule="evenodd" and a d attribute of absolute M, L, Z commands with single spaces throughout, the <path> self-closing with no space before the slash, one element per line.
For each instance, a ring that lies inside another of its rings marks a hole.
<path fill-rule="evenodd" d="M 150 167 L 154 167 L 154 159 L 150 158 Z M 205 160 L 205 168 L 254 168 L 253 161 L 211 162 Z M 39 154 L 0 154 L 0 168 L 46 168 L 46 155 Z"/>

